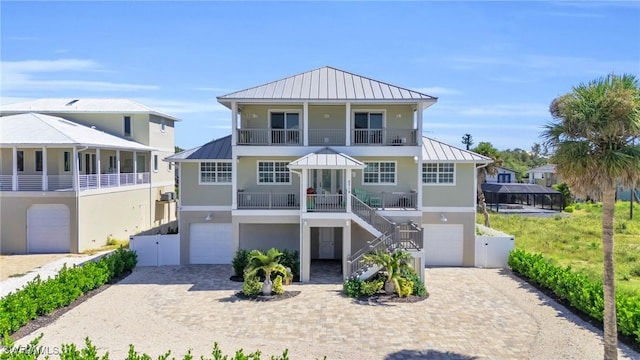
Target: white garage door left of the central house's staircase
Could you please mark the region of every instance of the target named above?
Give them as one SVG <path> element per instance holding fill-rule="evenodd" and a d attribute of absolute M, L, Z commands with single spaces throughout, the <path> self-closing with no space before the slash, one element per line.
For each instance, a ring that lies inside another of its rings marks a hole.
<path fill-rule="evenodd" d="M 189 263 L 231 263 L 231 224 L 191 224 L 189 230 Z"/>

